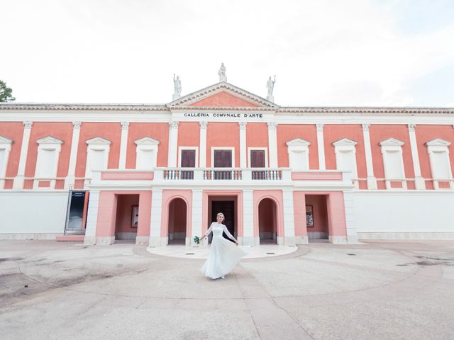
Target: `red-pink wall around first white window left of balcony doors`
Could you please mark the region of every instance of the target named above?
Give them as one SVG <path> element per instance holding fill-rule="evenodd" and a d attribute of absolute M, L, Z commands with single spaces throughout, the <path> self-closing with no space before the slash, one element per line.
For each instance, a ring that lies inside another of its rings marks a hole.
<path fill-rule="evenodd" d="M 167 166 L 169 146 L 168 123 L 131 123 L 128 130 L 128 149 L 126 150 L 126 169 L 135 169 L 135 140 L 150 137 L 159 140 L 157 166 Z M 118 164 L 118 163 L 117 163 Z"/>

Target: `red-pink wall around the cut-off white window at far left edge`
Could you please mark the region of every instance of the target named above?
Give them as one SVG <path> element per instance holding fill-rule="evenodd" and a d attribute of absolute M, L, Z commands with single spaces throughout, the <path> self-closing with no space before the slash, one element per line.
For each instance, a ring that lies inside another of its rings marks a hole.
<path fill-rule="evenodd" d="M 21 155 L 23 123 L 1 123 L 0 136 L 13 140 L 11 152 L 9 154 L 8 166 L 6 167 L 6 177 L 15 177 L 19 167 L 19 158 Z M 5 189 L 13 188 L 13 180 L 5 181 Z"/>

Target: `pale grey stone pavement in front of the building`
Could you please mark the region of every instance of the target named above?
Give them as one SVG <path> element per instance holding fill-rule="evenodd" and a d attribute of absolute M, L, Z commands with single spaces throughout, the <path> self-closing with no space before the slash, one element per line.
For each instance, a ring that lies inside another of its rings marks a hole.
<path fill-rule="evenodd" d="M 0 339 L 454 339 L 454 242 L 309 244 L 203 259 L 0 241 Z"/>

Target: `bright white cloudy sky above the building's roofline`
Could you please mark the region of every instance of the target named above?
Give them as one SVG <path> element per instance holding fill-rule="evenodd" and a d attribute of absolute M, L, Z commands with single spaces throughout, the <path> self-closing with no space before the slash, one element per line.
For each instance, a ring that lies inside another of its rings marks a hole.
<path fill-rule="evenodd" d="M 452 0 L 0 0 L 18 102 L 167 103 L 228 82 L 280 106 L 454 106 Z"/>

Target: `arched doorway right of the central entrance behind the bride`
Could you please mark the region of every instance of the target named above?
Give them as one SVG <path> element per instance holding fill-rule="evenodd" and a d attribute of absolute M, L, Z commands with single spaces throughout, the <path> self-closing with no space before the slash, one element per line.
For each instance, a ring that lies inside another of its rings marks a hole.
<path fill-rule="evenodd" d="M 264 198 L 258 205 L 258 233 L 260 244 L 277 243 L 277 206 L 271 198 Z"/>

